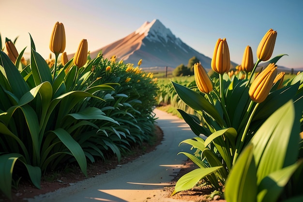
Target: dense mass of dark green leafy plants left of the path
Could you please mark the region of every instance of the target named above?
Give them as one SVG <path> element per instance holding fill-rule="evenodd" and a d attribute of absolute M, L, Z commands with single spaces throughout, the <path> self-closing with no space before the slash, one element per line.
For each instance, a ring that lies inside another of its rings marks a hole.
<path fill-rule="evenodd" d="M 0 50 L 0 192 L 8 198 L 20 176 L 40 188 L 42 174 L 68 163 L 87 176 L 88 162 L 120 160 L 154 130 L 152 76 L 102 54 L 54 68 L 30 42 L 26 66 L 25 48 L 15 64 Z"/>

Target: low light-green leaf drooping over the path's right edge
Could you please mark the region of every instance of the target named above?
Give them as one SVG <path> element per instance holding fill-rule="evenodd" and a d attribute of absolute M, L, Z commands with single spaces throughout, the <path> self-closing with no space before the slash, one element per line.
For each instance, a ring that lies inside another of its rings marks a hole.
<path fill-rule="evenodd" d="M 187 190 L 194 187 L 202 178 L 217 171 L 222 166 L 212 168 L 198 168 L 183 175 L 176 183 L 175 189 L 171 195 L 179 191 Z"/>

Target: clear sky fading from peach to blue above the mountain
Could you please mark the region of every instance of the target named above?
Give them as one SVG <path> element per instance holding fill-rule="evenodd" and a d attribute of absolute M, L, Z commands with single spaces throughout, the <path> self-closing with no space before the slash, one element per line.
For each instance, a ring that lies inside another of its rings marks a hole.
<path fill-rule="evenodd" d="M 303 67 L 303 0 L 0 0 L 0 34 L 14 40 L 20 52 L 36 50 L 47 58 L 54 24 L 64 24 L 67 54 L 81 39 L 93 51 L 136 31 L 145 21 L 159 19 L 176 37 L 212 57 L 218 38 L 226 38 L 233 62 L 241 63 L 247 45 L 256 50 L 273 29 L 277 63 Z M 143 61 L 144 62 L 144 61 Z M 256 62 L 256 61 L 255 61 Z"/>

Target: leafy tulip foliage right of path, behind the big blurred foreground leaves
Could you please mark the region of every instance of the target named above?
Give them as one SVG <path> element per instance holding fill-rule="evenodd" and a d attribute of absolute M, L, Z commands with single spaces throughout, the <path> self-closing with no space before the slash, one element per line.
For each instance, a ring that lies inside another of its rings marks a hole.
<path fill-rule="evenodd" d="M 273 60 L 276 62 L 281 57 Z M 293 99 L 292 102 L 302 116 L 303 80 L 300 74 L 284 82 L 281 89 L 277 89 L 277 85 L 274 85 L 266 100 L 258 104 L 251 101 L 248 94 L 248 79 L 243 79 L 242 74 L 232 77 L 227 74 L 218 76 L 212 77 L 214 88 L 209 94 L 200 93 L 195 86 L 186 87 L 188 83 L 178 84 L 172 81 L 172 85 L 178 97 L 196 112 L 190 114 L 178 109 L 185 122 L 198 136 L 195 141 L 186 140 L 184 143 L 195 148 L 195 154 L 199 155 L 181 154 L 189 157 L 200 168 L 222 166 L 222 169 L 210 172 L 209 175 L 201 175 L 201 178 L 204 177 L 217 190 L 222 190 L 220 184 L 225 184 L 229 171 L 238 160 L 238 155 L 249 145 L 260 126 L 277 109 Z M 200 144 L 203 146 L 199 146 Z M 293 156 L 293 158 L 297 157 Z M 252 168 L 248 165 L 246 169 Z M 197 176 L 192 177 L 197 178 Z M 180 190 L 180 187 L 176 189 Z"/>

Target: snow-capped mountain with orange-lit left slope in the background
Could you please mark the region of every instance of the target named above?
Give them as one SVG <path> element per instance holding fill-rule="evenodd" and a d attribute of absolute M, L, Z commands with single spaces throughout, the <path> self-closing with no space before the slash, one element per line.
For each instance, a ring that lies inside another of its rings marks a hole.
<path fill-rule="evenodd" d="M 139 29 L 128 36 L 105 47 L 91 52 L 94 58 L 102 51 L 105 58 L 116 55 L 124 63 L 133 63 L 142 59 L 140 67 L 177 67 L 187 65 L 194 56 L 206 69 L 211 68 L 212 59 L 197 52 L 177 38 L 158 19 L 145 22 Z M 232 62 L 232 65 L 237 64 Z"/>

